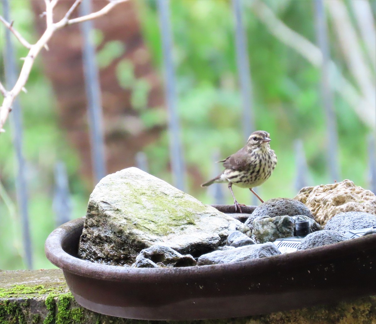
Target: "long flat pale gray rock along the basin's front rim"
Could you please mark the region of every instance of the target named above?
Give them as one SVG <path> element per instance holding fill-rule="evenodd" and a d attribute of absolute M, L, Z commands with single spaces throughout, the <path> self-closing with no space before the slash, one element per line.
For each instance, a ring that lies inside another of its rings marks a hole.
<path fill-rule="evenodd" d="M 240 262 L 281 254 L 277 247 L 271 243 L 252 244 L 237 247 L 226 251 L 213 251 L 199 257 L 197 265 L 210 265 L 219 263 Z"/>

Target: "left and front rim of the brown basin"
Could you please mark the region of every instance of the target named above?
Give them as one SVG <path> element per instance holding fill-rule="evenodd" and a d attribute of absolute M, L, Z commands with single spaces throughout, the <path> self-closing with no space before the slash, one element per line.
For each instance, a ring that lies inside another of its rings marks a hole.
<path fill-rule="evenodd" d="M 303 251 L 296 251 L 289 254 L 280 254 L 276 256 L 263 257 L 259 259 L 246 260 L 240 262 L 223 263 L 216 265 L 203 266 L 189 266 L 181 268 L 130 268 L 115 265 L 105 265 L 101 263 L 94 263 L 88 260 L 80 259 L 64 251 L 62 245 L 72 235 L 72 230 L 77 230 L 78 227 L 83 227 L 84 217 L 77 218 L 63 224 L 55 229 L 47 238 L 45 242 L 45 254 L 51 263 L 67 271 L 79 276 L 90 277 L 96 279 L 111 279 L 112 281 L 126 280 L 155 280 L 159 277 L 161 280 L 170 281 L 172 279 L 184 279 L 187 276 L 193 280 L 201 277 L 211 276 L 214 273 L 236 274 L 243 273 L 259 273 L 270 266 L 286 266 L 294 264 L 294 262 L 305 262 L 312 265 L 317 264 L 318 258 L 329 259 L 336 256 L 339 251 L 348 250 L 370 250 L 370 246 L 376 246 L 376 235 L 368 235 L 361 238 L 349 239 L 348 241 L 324 245 L 321 247 L 311 248 Z M 367 248 L 368 246 L 368 248 Z"/>

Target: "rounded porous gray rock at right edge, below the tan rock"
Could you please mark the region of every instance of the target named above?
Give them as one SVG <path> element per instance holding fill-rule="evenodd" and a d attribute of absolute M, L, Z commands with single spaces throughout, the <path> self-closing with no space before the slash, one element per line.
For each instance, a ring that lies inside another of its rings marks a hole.
<path fill-rule="evenodd" d="M 376 216 L 365 212 L 344 212 L 332 217 L 325 225 L 326 230 L 346 233 L 350 230 L 376 226 Z"/>

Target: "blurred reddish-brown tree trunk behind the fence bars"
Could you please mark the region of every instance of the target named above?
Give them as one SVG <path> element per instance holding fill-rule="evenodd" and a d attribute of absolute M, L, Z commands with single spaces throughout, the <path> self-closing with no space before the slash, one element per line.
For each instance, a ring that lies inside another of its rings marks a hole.
<path fill-rule="evenodd" d="M 67 12 L 74 1 L 60 1 L 54 9 L 54 21 Z M 30 1 L 35 14 L 36 28 L 41 35 L 45 30 L 45 18 L 39 15 L 45 10 L 43 1 Z M 92 10 L 97 11 L 108 3 L 94 1 Z M 78 10 L 72 17 L 78 15 Z M 109 14 L 94 20 L 94 26 L 103 33 L 101 50 L 109 41 L 124 44 L 124 53 L 100 69 L 102 89 L 103 126 L 106 143 L 107 173 L 135 165 L 135 154 L 147 144 L 155 141 L 164 126 L 146 128 L 139 118 L 139 110 L 132 107 L 133 83 L 120 86 L 117 66 L 126 59 L 133 64 L 134 79 L 143 79 L 149 85 L 147 109 L 163 106 L 164 97 L 161 82 L 150 60 L 132 1 L 117 5 Z M 86 179 L 92 176 L 86 95 L 82 67 L 82 36 L 78 24 L 58 30 L 49 42 L 49 51 L 42 52 L 45 74 L 51 80 L 60 125 L 70 142 L 76 147 L 81 158 L 81 172 Z"/>

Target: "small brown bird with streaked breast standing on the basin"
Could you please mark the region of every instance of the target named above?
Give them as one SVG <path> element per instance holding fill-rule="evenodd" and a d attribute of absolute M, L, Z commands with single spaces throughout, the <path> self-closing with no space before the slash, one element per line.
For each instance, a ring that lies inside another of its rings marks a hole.
<path fill-rule="evenodd" d="M 214 179 L 203 183 L 202 187 L 207 187 L 213 183 L 227 182 L 232 197 L 234 198 L 235 212 L 241 211 L 241 205 L 235 199 L 232 192 L 232 185 L 241 188 L 249 188 L 253 194 L 263 203 L 264 201 L 253 191 L 269 179 L 277 164 L 277 156 L 270 148 L 270 134 L 264 130 L 253 132 L 246 145 L 236 153 L 218 161 L 223 163 L 224 171 Z M 244 206 L 244 205 L 243 205 Z"/>

